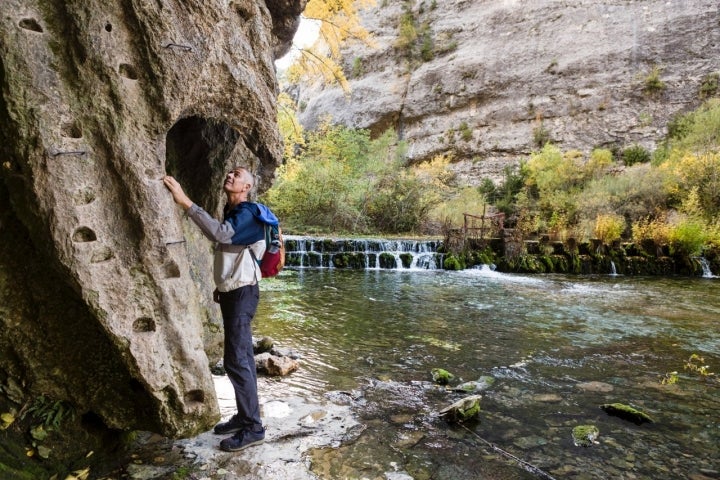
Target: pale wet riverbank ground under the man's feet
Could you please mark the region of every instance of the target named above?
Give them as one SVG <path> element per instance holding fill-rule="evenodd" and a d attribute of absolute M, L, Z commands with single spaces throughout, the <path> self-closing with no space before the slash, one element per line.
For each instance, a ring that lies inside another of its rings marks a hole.
<path fill-rule="evenodd" d="M 225 376 L 214 376 L 223 419 L 234 413 L 232 386 Z M 336 447 L 362 431 L 342 394 L 313 398 L 293 389 L 289 377 L 258 378 L 265 443 L 235 453 L 219 448 L 222 435 L 211 431 L 172 440 L 141 433 L 124 466 L 101 478 L 107 480 L 312 480 L 308 454 Z M 333 400 L 331 400 L 331 397 Z"/>

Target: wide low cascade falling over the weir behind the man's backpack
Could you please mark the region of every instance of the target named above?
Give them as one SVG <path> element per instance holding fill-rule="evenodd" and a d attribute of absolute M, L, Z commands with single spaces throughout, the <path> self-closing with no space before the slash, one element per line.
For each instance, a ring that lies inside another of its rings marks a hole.
<path fill-rule="evenodd" d="M 285 265 L 355 270 L 442 268 L 439 240 L 330 239 L 285 236 Z"/>

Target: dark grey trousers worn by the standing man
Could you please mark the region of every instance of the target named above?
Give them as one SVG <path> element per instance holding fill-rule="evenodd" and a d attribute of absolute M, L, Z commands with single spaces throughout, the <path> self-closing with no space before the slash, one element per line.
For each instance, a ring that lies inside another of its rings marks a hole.
<path fill-rule="evenodd" d="M 223 362 L 230 383 L 235 389 L 237 418 L 250 430 L 257 430 L 262 426 L 250 327 L 259 300 L 260 289 L 257 284 L 230 292 L 220 292 L 220 310 L 225 328 Z"/>

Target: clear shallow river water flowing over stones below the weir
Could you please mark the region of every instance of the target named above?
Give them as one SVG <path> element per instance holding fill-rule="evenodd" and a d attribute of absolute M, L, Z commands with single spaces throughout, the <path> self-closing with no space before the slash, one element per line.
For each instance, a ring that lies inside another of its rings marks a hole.
<path fill-rule="evenodd" d="M 720 383 L 684 369 L 720 373 L 716 279 L 299 269 L 263 286 L 255 333 L 303 356 L 283 388 L 367 427 L 313 452 L 319 478 L 720 478 Z M 465 394 L 436 367 L 495 379 L 477 421 L 438 418 Z M 654 423 L 600 409 L 615 402 Z"/>

